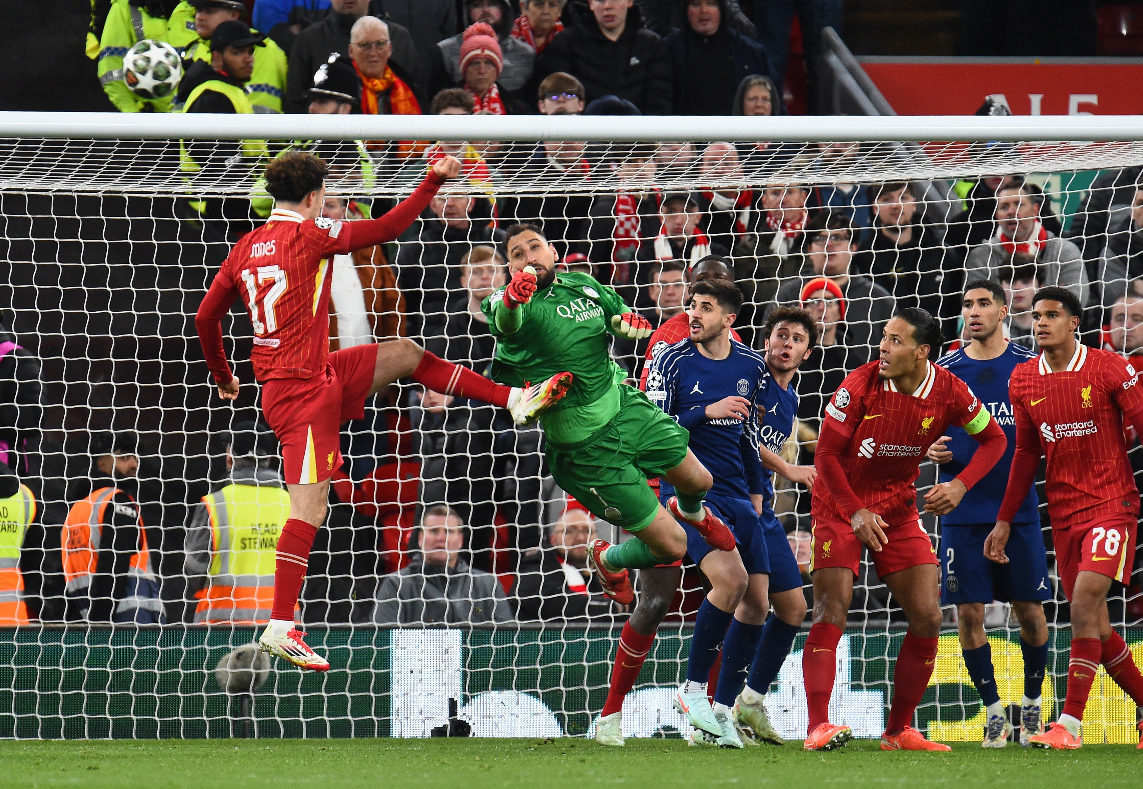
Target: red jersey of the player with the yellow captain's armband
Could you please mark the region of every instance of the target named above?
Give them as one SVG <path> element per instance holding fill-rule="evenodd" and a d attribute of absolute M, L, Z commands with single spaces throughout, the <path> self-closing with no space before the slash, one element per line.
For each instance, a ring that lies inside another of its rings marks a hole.
<path fill-rule="evenodd" d="M 878 362 L 863 364 L 841 383 L 825 404 L 824 419 L 849 436 L 841 457 L 846 480 L 854 494 L 887 525 L 917 522 L 917 475 L 929 444 L 945 427 L 969 427 L 978 433 L 988 425 L 988 411 L 965 381 L 929 362 L 928 375 L 916 392 L 900 392 L 892 380 L 878 375 Z M 821 477 L 814 485 L 812 512 L 849 523 L 853 513 L 842 512 Z"/>

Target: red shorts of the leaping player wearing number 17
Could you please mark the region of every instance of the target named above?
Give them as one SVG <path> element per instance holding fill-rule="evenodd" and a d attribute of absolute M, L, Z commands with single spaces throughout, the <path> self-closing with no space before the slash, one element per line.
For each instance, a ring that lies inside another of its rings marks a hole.
<path fill-rule="evenodd" d="M 365 398 L 377 367 L 376 345 L 329 354 L 313 378 L 272 378 L 262 386 L 262 413 L 282 445 L 287 485 L 322 482 L 342 465 L 341 430 L 365 417 Z"/>

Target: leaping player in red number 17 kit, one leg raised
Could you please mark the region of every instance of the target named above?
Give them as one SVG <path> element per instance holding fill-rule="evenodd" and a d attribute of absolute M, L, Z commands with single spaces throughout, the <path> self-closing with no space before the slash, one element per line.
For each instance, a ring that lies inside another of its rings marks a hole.
<path fill-rule="evenodd" d="M 234 400 L 239 383 L 226 363 L 221 320 L 239 296 L 250 315 L 250 362 L 263 385 L 263 413 L 282 445 L 290 497 L 278 539 L 273 610 L 258 643 L 301 668 L 329 668 L 294 627 L 294 606 L 326 518 L 329 478 L 342 465 L 341 422 L 363 417 L 367 397 L 405 377 L 510 409 L 518 424 L 534 419 L 570 385 L 570 375 L 559 373 L 523 389 L 499 386 L 406 339 L 329 353 L 330 258 L 397 239 L 459 172 L 461 163 L 446 156 L 383 217 L 345 223 L 321 217 L 328 175 L 321 159 L 302 152 L 278 158 L 266 167 L 266 191 L 275 201 L 270 219 L 234 244 L 194 320 L 218 396 Z"/>

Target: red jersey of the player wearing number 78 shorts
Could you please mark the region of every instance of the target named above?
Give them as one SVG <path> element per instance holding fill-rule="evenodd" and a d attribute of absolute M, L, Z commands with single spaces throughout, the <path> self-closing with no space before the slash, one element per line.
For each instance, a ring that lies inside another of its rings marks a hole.
<path fill-rule="evenodd" d="M 1053 372 L 1040 354 L 1012 371 L 1008 396 L 1017 438 L 1034 432 L 1047 459 L 1053 529 L 1101 515 L 1138 514 L 1124 414 L 1143 410 L 1141 389 L 1130 363 L 1079 343 L 1065 370 Z"/>

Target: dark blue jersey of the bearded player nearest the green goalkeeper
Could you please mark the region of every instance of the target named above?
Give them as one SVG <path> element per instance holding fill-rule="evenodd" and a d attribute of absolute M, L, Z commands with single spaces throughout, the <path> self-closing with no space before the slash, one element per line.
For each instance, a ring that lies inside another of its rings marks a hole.
<path fill-rule="evenodd" d="M 703 356 L 689 339 L 662 351 L 647 373 L 647 397 L 690 433 L 690 451 L 714 477 L 711 492 L 749 499 L 761 492 L 762 464 L 757 441 L 759 396 L 769 380 L 761 354 L 730 340 L 730 355 L 722 360 Z M 745 421 L 728 417 L 708 419 L 706 406 L 726 397 L 745 397 Z M 661 493 L 673 493 L 663 480 Z"/>

